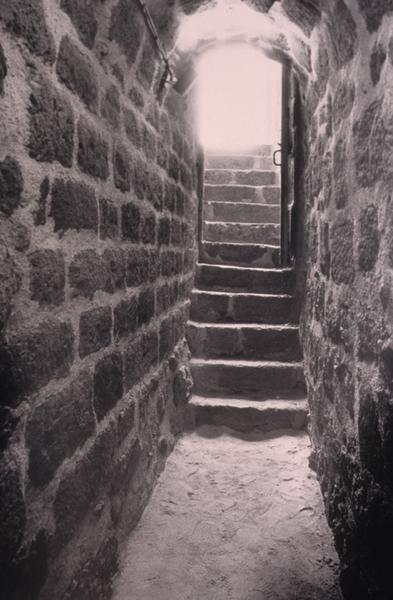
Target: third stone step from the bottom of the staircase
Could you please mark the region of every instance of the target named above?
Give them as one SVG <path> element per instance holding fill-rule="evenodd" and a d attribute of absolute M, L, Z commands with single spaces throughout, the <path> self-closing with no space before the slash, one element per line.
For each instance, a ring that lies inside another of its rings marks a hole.
<path fill-rule="evenodd" d="M 299 361 L 295 325 L 201 323 L 189 321 L 187 340 L 195 358 Z"/>

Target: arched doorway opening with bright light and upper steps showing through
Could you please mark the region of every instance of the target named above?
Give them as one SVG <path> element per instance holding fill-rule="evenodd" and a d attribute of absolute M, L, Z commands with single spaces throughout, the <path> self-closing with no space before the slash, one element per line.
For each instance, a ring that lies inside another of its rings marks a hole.
<path fill-rule="evenodd" d="M 256 46 L 232 42 L 205 51 L 197 73 L 198 135 L 205 153 L 201 259 L 286 265 L 286 65 Z"/>

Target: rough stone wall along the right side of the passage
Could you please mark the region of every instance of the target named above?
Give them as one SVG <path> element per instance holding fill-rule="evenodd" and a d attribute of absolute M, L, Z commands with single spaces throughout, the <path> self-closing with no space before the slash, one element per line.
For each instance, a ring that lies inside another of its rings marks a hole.
<path fill-rule="evenodd" d="M 311 40 L 303 345 L 348 598 L 393 574 L 393 3 L 334 0 Z"/>

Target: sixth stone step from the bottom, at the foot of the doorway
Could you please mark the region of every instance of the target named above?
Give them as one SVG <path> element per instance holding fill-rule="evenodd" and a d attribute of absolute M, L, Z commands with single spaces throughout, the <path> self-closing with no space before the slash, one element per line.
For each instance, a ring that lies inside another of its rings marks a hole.
<path fill-rule="evenodd" d="M 238 267 L 278 267 L 280 248 L 263 244 L 203 242 L 201 260 L 209 264 L 230 264 Z"/>

